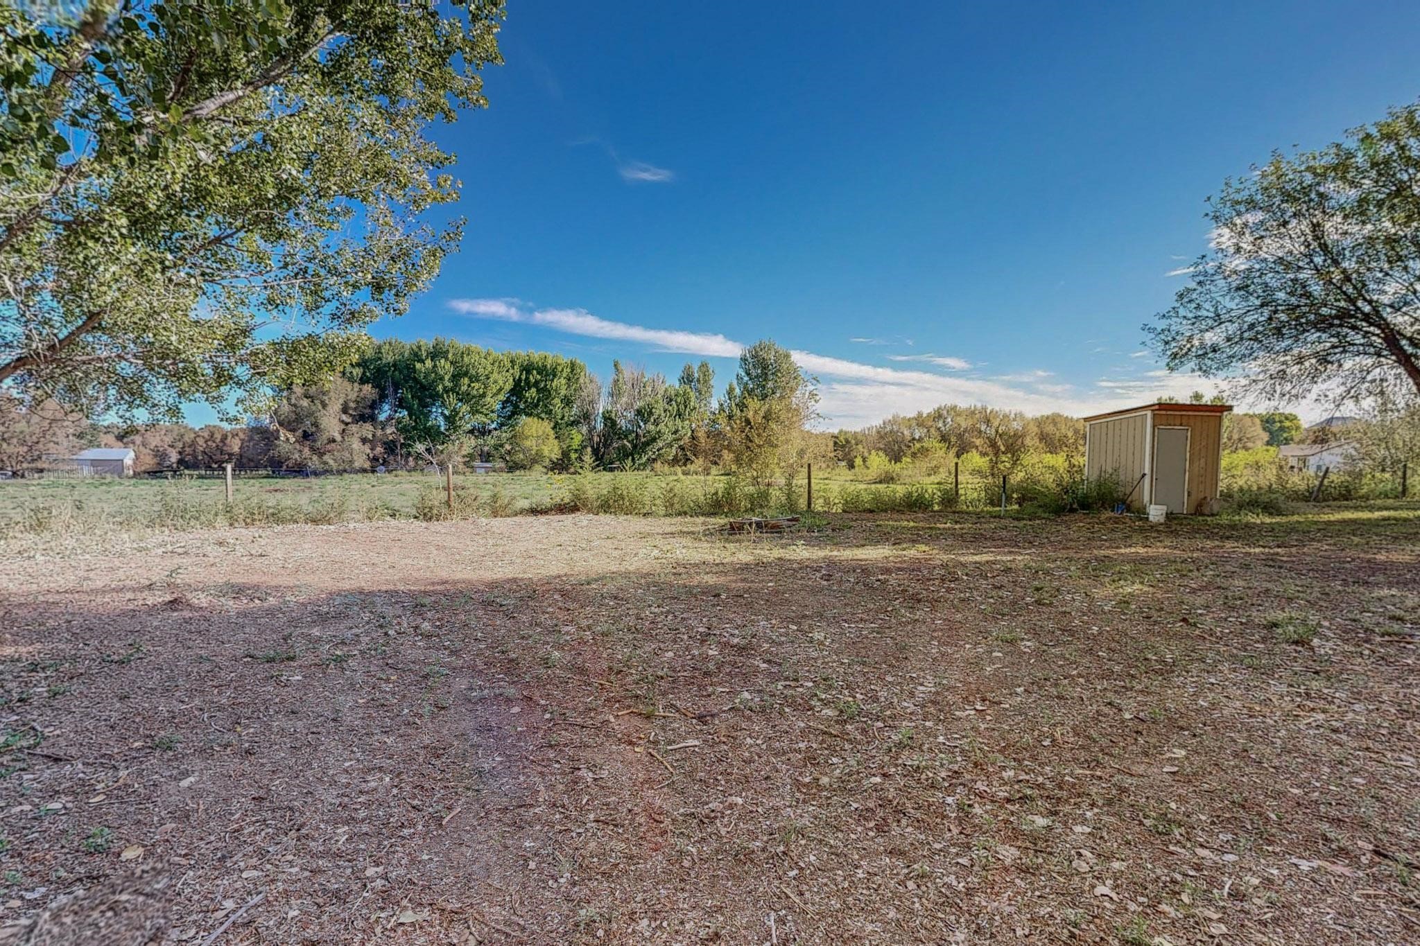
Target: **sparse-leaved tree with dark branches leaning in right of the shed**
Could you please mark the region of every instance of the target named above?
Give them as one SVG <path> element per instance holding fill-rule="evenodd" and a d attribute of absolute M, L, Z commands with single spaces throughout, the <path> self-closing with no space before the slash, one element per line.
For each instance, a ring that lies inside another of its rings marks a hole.
<path fill-rule="evenodd" d="M 1420 394 L 1420 104 L 1208 200 L 1211 251 L 1145 326 L 1170 370 L 1271 400 Z"/>

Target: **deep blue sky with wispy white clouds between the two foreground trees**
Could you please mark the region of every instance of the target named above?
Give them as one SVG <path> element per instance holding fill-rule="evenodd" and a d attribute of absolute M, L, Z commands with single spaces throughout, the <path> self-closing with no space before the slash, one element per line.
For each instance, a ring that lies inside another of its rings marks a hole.
<path fill-rule="evenodd" d="M 1420 96 L 1420 4 L 510 0 L 463 250 L 375 333 L 673 374 L 804 353 L 832 425 L 1187 393 L 1140 325 L 1204 197 Z"/>

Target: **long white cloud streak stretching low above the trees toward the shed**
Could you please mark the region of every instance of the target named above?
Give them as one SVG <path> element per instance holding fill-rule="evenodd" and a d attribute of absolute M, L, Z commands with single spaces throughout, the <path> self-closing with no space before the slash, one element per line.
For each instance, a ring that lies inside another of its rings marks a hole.
<path fill-rule="evenodd" d="M 518 299 L 456 299 L 449 305 L 470 318 L 518 322 L 569 335 L 632 342 L 662 352 L 728 359 L 738 357 L 744 350 L 741 342 L 719 332 L 652 329 L 604 319 L 585 309 L 540 309 Z M 910 414 L 950 403 L 991 404 L 1032 414 L 1062 411 L 1083 416 L 1127 407 L 1140 397 L 1179 393 L 1180 389 L 1184 396 L 1194 389 L 1211 390 L 1191 376 L 1170 379 L 1167 372 L 1154 372 L 1137 379 L 1102 379 L 1089 391 L 1079 393 L 1069 384 L 1045 383 L 1045 379 L 1052 377 L 1047 370 L 983 379 L 865 365 L 805 350 L 794 350 L 792 355 L 799 367 L 819 379 L 821 408 L 826 421 L 846 427 L 861 427 L 889 414 Z"/>

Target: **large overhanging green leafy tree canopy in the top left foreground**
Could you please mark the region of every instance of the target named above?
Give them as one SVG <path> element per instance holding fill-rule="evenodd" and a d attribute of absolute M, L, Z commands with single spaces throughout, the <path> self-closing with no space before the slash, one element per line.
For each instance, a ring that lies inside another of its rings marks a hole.
<path fill-rule="evenodd" d="M 21 9 L 23 6 L 23 9 Z M 0 0 L 0 383 L 176 417 L 325 377 L 454 250 L 501 0 Z"/>

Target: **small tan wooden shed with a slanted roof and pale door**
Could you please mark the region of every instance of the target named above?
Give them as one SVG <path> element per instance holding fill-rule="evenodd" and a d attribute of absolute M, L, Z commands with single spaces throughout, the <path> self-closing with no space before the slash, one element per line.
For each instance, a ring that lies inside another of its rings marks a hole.
<path fill-rule="evenodd" d="M 1228 404 L 1145 404 L 1085 418 L 1085 475 L 1115 475 L 1129 508 L 1170 515 L 1218 511 Z"/>

